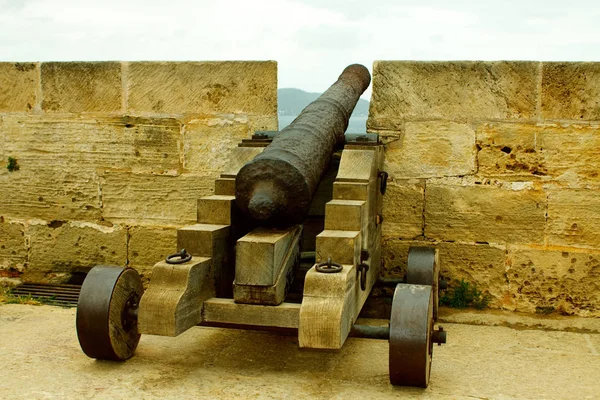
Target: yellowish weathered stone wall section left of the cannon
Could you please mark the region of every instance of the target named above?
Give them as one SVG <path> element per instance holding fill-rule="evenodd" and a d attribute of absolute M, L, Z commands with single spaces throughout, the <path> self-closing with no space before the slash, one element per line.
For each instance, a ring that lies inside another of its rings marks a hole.
<path fill-rule="evenodd" d="M 0 63 L 0 279 L 147 274 L 257 129 L 275 62 Z"/>

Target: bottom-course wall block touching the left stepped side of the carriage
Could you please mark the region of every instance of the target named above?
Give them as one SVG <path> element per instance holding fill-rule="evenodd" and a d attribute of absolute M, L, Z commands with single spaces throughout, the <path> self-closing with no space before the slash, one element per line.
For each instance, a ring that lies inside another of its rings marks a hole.
<path fill-rule="evenodd" d="M 131 227 L 127 251 L 129 266 L 149 277 L 154 264 L 177 251 L 177 229 Z"/>

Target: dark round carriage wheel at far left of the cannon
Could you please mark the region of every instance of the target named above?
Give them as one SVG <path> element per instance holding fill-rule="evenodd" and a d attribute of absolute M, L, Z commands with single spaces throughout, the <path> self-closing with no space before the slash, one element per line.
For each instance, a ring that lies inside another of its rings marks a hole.
<path fill-rule="evenodd" d="M 88 273 L 77 304 L 77 337 L 90 358 L 122 361 L 140 341 L 142 281 L 131 268 L 99 265 Z"/>

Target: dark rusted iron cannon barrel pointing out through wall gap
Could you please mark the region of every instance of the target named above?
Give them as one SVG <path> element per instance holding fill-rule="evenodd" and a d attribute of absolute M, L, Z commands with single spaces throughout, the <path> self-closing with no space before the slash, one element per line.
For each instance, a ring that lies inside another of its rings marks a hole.
<path fill-rule="evenodd" d="M 235 180 L 240 209 L 262 225 L 301 222 L 331 155 L 344 142 L 352 111 L 370 83 L 367 68 L 346 67 L 325 93 L 246 163 Z"/>

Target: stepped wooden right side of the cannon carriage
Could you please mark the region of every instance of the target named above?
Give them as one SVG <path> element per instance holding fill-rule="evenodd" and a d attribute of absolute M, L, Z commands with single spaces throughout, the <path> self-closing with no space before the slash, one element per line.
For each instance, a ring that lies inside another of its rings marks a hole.
<path fill-rule="evenodd" d="M 331 257 L 344 268 L 332 274 L 319 273 L 314 267 L 307 272 L 298 329 L 300 347 L 341 348 L 377 279 L 381 261 L 378 173 L 382 161 L 382 146 L 342 152 L 335 199 L 327 204 L 326 230 L 317 236 L 316 253 L 317 261 Z M 368 253 L 366 260 L 361 260 L 362 250 Z M 363 261 L 369 265 L 365 290 L 358 272 Z"/>

